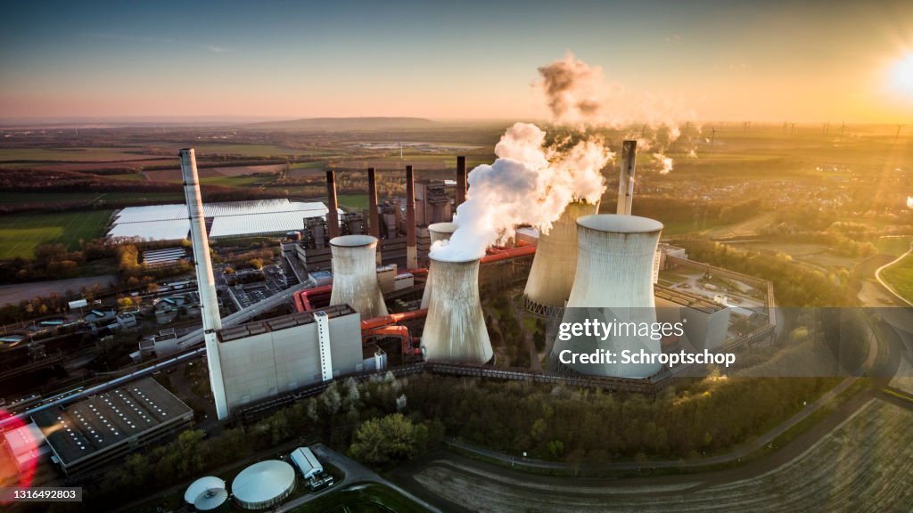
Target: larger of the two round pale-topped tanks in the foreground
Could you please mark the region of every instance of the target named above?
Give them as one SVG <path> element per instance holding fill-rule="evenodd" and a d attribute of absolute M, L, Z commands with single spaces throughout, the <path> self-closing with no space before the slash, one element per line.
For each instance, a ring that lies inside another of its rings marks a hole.
<path fill-rule="evenodd" d="M 295 469 L 277 459 L 248 466 L 231 483 L 235 502 L 245 509 L 256 510 L 276 506 L 294 490 Z"/>

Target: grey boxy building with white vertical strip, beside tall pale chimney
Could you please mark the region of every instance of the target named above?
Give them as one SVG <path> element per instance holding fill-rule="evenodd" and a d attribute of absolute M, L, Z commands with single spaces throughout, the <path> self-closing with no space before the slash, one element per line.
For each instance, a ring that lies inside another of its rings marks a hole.
<path fill-rule="evenodd" d="M 346 305 L 221 330 L 226 408 L 362 372 L 362 327 Z"/>

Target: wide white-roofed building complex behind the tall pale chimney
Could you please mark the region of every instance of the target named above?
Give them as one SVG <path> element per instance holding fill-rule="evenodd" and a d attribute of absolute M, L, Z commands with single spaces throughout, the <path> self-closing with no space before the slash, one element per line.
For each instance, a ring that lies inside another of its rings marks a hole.
<path fill-rule="evenodd" d="M 287 198 L 203 205 L 211 239 L 285 235 L 300 230 L 304 219 L 325 218 L 328 212 L 320 202 L 290 202 Z M 185 204 L 155 204 L 128 206 L 116 212 L 108 237 L 181 240 L 189 231 Z"/>

